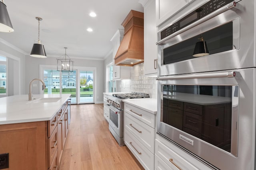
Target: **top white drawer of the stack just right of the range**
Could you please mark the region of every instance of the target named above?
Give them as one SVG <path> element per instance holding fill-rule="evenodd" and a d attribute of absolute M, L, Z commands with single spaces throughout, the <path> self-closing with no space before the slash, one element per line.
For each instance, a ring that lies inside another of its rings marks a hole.
<path fill-rule="evenodd" d="M 155 115 L 149 113 L 145 110 L 142 110 L 138 107 L 134 107 L 130 104 L 124 104 L 124 111 L 129 113 L 130 115 L 136 117 L 140 121 L 146 123 L 150 127 L 155 128 Z"/>

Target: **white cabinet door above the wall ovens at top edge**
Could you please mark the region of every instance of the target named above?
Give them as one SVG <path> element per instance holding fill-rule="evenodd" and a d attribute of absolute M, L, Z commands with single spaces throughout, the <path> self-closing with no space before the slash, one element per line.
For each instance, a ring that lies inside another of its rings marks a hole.
<path fill-rule="evenodd" d="M 187 5 L 188 0 L 156 0 L 156 25 L 174 16 Z"/>

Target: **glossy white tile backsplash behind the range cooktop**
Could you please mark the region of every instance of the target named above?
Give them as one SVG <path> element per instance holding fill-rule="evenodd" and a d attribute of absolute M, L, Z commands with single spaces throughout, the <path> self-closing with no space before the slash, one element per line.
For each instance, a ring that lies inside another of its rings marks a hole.
<path fill-rule="evenodd" d="M 151 98 L 157 98 L 156 77 L 144 76 L 144 63 L 132 67 L 131 80 L 120 80 L 116 84 L 120 92 L 140 92 L 150 94 Z"/>

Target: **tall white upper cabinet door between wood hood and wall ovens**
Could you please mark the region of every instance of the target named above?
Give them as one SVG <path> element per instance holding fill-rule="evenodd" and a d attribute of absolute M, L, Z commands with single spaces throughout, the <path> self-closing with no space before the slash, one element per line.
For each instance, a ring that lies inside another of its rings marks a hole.
<path fill-rule="evenodd" d="M 157 73 L 156 1 L 144 6 L 144 74 Z"/>

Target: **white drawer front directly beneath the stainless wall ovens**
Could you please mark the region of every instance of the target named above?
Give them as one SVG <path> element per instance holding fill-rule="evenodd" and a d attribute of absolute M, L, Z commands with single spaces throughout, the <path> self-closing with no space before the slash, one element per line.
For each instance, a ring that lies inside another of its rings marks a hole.
<path fill-rule="evenodd" d="M 199 170 L 190 162 L 186 161 L 172 149 L 168 148 L 166 145 L 162 144 L 158 139 L 156 139 L 156 154 L 161 158 L 168 166 L 174 170 L 178 170 L 180 167 L 182 170 Z M 172 159 L 172 162 L 170 161 Z M 176 165 L 175 165 L 176 164 Z"/>

